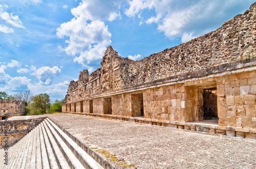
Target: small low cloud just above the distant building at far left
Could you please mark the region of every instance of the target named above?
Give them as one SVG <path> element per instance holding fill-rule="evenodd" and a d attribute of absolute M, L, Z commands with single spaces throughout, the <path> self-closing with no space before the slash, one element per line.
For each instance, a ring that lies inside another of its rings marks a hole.
<path fill-rule="evenodd" d="M 10 79 L 10 81 L 8 81 L 7 88 L 12 91 L 27 90 L 30 81 L 31 79 L 28 79 L 25 76 L 13 77 Z"/>

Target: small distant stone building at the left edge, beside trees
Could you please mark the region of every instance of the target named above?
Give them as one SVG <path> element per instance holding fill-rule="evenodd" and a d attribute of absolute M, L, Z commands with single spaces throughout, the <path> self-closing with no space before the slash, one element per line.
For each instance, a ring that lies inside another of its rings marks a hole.
<path fill-rule="evenodd" d="M 25 103 L 20 100 L 0 100 L 0 110 L 0 120 L 4 120 L 6 114 L 8 118 L 21 116 L 25 113 Z"/>

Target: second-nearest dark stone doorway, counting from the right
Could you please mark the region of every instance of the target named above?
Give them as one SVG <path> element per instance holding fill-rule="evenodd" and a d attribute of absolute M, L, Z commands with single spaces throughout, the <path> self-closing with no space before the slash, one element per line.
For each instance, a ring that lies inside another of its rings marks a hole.
<path fill-rule="evenodd" d="M 132 117 L 144 118 L 143 93 L 132 94 Z"/>

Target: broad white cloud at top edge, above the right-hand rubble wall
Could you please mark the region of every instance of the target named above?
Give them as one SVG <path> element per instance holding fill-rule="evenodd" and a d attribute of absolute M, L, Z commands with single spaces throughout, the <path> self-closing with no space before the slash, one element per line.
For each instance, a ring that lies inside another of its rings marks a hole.
<path fill-rule="evenodd" d="M 126 9 L 125 14 L 135 17 L 136 14 L 140 16 L 144 9 L 154 9 L 156 15 L 146 19 L 145 22 L 147 24 L 157 23 L 157 29 L 163 32 L 169 39 L 183 37 L 183 41 L 187 41 L 189 38 L 193 38 L 192 34 L 184 34 L 189 27 L 189 23 L 200 21 L 206 11 L 210 12 L 212 9 L 204 8 L 206 3 L 211 3 L 205 2 L 204 0 L 194 4 L 188 2 L 182 3 L 181 8 L 177 6 L 177 3 L 174 4 L 173 1 L 132 0 L 129 2 L 130 7 Z M 208 4 L 208 6 L 210 5 Z"/>

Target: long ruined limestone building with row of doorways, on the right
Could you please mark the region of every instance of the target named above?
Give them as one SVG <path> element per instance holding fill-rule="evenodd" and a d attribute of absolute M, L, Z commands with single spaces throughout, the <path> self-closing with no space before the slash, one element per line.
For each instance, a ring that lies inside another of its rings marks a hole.
<path fill-rule="evenodd" d="M 256 4 L 216 31 L 139 61 L 109 46 L 62 111 L 256 139 Z M 195 125 L 211 110 L 216 125 Z"/>

